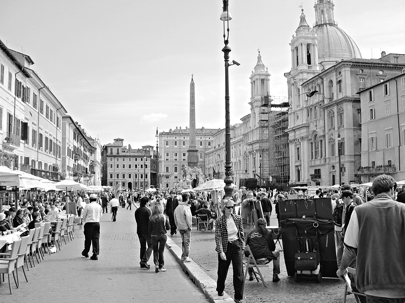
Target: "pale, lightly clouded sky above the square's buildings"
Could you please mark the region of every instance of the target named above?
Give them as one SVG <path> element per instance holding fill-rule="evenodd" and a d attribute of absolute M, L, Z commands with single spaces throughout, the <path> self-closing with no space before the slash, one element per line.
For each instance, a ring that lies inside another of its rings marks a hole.
<path fill-rule="evenodd" d="M 402 0 L 335 0 L 335 21 L 362 58 L 405 54 Z M 230 123 L 250 113 L 258 49 L 270 93 L 287 97 L 290 41 L 301 7 L 312 27 L 314 0 L 229 0 Z M 0 0 L 0 39 L 31 57 L 31 68 L 101 144 L 124 138 L 156 145 L 156 128 L 225 127 L 221 0 Z"/>

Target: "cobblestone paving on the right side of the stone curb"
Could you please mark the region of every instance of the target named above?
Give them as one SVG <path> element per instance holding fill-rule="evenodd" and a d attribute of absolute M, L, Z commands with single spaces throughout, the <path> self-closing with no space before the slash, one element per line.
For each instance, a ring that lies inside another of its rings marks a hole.
<path fill-rule="evenodd" d="M 277 222 L 273 215 L 271 222 Z M 172 240 L 181 247 L 181 237 L 177 233 Z M 277 244 L 279 249 L 279 245 Z M 298 282 L 294 277 L 287 276 L 284 255 L 280 252 L 280 281 L 272 283 L 272 264 L 269 268 L 261 269 L 267 287 L 261 282 L 249 281 L 245 283 L 244 303 L 256 302 L 343 302 L 344 283 L 339 279 L 322 278 L 316 283 L 313 278 L 301 278 Z M 214 232 L 197 231 L 196 226 L 191 232 L 190 258 L 193 259 L 213 280 L 217 281 L 218 255 L 215 251 Z M 232 265 L 225 283 L 225 292 L 233 297 Z M 355 302 L 353 295 L 347 296 L 347 302 Z"/>

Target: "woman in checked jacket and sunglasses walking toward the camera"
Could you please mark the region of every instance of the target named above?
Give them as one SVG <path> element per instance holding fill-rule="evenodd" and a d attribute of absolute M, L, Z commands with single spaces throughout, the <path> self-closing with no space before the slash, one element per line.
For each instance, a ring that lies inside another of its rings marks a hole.
<path fill-rule="evenodd" d="M 222 217 L 215 221 L 215 250 L 218 252 L 218 295 L 224 295 L 225 280 L 232 261 L 235 302 L 244 297 L 244 268 L 242 264 L 245 249 L 242 217 L 233 214 L 233 201 L 225 198 L 221 203 Z"/>

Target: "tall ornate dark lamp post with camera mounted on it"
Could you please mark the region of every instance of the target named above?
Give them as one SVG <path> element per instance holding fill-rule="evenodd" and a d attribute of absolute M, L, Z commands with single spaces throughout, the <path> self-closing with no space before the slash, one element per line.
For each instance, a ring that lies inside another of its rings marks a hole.
<path fill-rule="evenodd" d="M 229 64 L 229 53 L 231 48 L 228 46 L 229 40 L 229 20 L 232 19 L 228 11 L 228 0 L 223 0 L 223 10 L 219 18 L 224 23 L 224 44 L 222 52 L 224 52 L 225 61 L 225 197 L 232 196 L 232 162 L 231 162 L 231 134 L 230 134 L 230 117 L 229 117 L 229 74 L 228 68 L 231 65 L 239 65 L 236 61 Z M 225 30 L 226 22 L 226 30 Z"/>

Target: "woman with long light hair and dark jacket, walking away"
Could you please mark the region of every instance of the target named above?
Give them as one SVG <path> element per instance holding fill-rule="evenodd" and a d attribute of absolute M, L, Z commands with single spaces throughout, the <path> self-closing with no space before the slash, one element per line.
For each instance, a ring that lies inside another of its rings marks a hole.
<path fill-rule="evenodd" d="M 155 265 L 155 272 L 165 272 L 165 259 L 163 253 L 167 241 L 167 230 L 170 229 L 169 221 L 166 216 L 161 212 L 159 205 L 155 205 L 152 214 L 149 217 L 148 232 L 152 239 L 153 245 L 153 263 Z"/>

